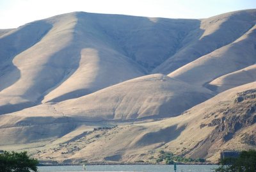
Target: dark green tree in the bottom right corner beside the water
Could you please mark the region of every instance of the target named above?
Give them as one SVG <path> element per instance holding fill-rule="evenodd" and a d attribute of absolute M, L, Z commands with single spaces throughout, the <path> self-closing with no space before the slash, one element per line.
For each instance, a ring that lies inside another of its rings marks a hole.
<path fill-rule="evenodd" d="M 256 150 L 243 151 L 237 158 L 225 158 L 220 160 L 218 172 L 255 172 Z"/>

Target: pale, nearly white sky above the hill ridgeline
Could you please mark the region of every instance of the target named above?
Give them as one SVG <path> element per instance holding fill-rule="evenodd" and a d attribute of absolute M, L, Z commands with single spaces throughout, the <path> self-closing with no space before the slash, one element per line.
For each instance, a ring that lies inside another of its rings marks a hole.
<path fill-rule="evenodd" d="M 0 29 L 68 12 L 202 19 L 256 8 L 256 0 L 0 0 Z"/>

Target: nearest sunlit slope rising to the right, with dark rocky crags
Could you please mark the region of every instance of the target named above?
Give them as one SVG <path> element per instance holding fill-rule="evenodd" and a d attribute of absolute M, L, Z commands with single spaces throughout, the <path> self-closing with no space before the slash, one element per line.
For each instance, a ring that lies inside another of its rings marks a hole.
<path fill-rule="evenodd" d="M 165 150 L 216 162 L 220 150 L 256 148 L 255 116 L 256 82 L 252 82 L 221 93 L 175 118 L 96 131 L 92 134 L 100 134 L 99 139 L 81 145 L 81 151 L 75 150 L 70 158 L 147 161 L 152 156 L 157 158 L 157 150 Z"/>

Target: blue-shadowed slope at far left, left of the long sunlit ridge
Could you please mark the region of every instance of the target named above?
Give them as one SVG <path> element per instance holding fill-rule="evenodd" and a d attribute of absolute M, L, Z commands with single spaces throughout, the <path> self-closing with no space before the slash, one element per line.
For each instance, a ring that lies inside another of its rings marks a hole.
<path fill-rule="evenodd" d="M 51 29 L 51 24 L 47 22 L 32 22 L 0 37 L 0 91 L 8 88 L 20 78 L 20 70 L 13 64 L 13 58 L 40 42 L 49 29 Z"/>

